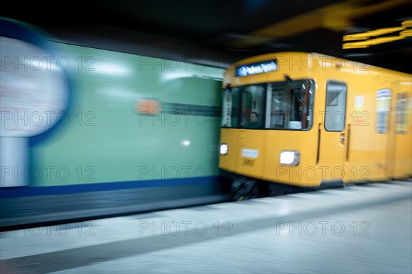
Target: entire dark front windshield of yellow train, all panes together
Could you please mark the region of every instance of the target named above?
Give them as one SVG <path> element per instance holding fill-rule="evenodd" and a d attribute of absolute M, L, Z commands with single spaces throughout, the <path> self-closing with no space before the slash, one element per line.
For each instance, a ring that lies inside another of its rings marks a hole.
<path fill-rule="evenodd" d="M 308 79 L 225 89 L 222 127 L 308 130 L 313 100 L 314 82 Z"/>

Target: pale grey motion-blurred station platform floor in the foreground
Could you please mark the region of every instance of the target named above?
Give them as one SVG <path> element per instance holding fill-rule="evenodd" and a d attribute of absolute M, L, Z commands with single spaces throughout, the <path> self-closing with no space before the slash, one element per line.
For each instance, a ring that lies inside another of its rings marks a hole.
<path fill-rule="evenodd" d="M 5 273 L 412 273 L 412 180 L 1 232 Z"/>

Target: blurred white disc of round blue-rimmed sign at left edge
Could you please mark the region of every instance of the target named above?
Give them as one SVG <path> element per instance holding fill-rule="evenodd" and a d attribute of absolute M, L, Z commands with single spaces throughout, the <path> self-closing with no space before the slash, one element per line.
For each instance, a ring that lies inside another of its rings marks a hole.
<path fill-rule="evenodd" d="M 0 37 L 1 137 L 32 137 L 63 117 L 68 100 L 64 72 L 43 49 Z"/>

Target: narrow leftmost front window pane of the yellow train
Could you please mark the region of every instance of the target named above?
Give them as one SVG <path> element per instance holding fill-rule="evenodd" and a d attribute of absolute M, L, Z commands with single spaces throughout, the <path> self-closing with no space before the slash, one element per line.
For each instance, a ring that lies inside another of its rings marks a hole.
<path fill-rule="evenodd" d="M 222 100 L 222 126 L 238 126 L 238 95 L 239 88 L 225 89 Z"/>

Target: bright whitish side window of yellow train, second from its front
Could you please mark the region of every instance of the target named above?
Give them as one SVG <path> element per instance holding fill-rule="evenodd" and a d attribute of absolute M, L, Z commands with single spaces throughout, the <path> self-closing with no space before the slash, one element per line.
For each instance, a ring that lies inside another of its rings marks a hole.
<path fill-rule="evenodd" d="M 376 133 L 388 133 L 391 94 L 390 89 L 376 91 Z"/>

